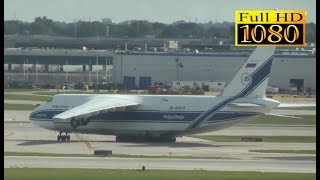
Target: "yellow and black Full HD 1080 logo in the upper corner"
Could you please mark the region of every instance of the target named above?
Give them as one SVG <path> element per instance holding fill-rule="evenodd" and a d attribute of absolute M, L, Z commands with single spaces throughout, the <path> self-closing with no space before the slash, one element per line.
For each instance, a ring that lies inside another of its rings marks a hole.
<path fill-rule="evenodd" d="M 305 46 L 303 10 L 237 10 L 236 46 Z"/>

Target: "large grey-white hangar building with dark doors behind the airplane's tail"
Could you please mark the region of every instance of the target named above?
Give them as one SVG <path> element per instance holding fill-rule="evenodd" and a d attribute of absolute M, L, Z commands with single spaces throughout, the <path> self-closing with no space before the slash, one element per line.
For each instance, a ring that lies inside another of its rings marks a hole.
<path fill-rule="evenodd" d="M 126 52 L 116 53 L 113 82 L 130 89 L 146 88 L 155 82 L 229 82 L 250 53 Z M 269 86 L 316 90 L 315 54 L 276 51 Z"/>

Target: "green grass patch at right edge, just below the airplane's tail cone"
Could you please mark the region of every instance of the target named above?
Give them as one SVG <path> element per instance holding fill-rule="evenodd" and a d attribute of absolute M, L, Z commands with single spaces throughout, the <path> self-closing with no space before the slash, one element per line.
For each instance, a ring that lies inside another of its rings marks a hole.
<path fill-rule="evenodd" d="M 289 117 L 261 116 L 244 124 L 316 125 L 315 115 L 299 115 L 302 119 Z"/>

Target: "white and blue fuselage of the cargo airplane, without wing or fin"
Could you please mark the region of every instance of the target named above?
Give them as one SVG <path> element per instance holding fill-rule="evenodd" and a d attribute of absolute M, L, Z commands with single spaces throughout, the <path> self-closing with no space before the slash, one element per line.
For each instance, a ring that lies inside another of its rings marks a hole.
<path fill-rule="evenodd" d="M 85 126 L 72 128 L 53 121 L 53 116 L 77 107 L 92 96 L 117 97 L 141 104 L 138 109 L 104 112 L 90 117 Z M 227 102 L 228 101 L 228 102 Z M 227 102 L 227 103 L 224 103 Z M 230 103 L 253 103 L 257 107 L 231 106 Z M 255 118 L 279 105 L 268 98 L 237 98 L 190 95 L 56 95 L 38 106 L 30 120 L 40 127 L 56 131 L 90 134 L 135 134 L 183 136 L 190 133 L 216 131 Z M 212 109 L 215 107 L 216 109 Z"/>

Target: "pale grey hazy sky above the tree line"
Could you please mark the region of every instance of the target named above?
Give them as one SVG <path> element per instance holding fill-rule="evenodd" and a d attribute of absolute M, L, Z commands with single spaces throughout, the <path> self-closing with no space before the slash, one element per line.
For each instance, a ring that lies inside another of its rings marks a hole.
<path fill-rule="evenodd" d="M 4 20 L 234 22 L 241 9 L 305 10 L 307 22 L 316 22 L 316 0 L 4 0 Z"/>

